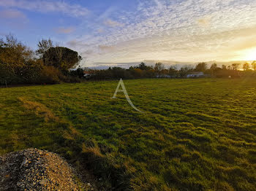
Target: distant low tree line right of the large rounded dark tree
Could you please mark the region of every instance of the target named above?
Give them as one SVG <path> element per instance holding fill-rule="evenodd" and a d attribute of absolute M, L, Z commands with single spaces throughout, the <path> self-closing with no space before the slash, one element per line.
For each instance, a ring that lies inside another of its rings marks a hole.
<path fill-rule="evenodd" d="M 165 68 L 163 63 L 156 63 L 154 66 L 147 66 L 146 63 L 140 63 L 138 66 L 131 66 L 129 69 L 113 67 L 105 70 L 85 69 L 89 79 L 136 79 L 136 78 L 185 78 L 188 74 L 203 72 L 203 77 L 256 77 L 256 61 L 244 63 L 243 71 L 240 69 L 240 63 L 233 63 L 230 66 L 222 65 L 218 67 L 217 63 L 211 64 L 208 67 L 207 63 L 198 63 L 195 67 L 182 66 L 178 69 L 177 66 Z"/>

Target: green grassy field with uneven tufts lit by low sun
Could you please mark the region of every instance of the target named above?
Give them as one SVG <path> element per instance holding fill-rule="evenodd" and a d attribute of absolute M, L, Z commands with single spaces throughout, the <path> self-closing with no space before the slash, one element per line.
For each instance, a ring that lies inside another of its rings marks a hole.
<path fill-rule="evenodd" d="M 0 154 L 28 147 L 108 190 L 255 190 L 256 79 L 124 80 L 0 89 Z"/>

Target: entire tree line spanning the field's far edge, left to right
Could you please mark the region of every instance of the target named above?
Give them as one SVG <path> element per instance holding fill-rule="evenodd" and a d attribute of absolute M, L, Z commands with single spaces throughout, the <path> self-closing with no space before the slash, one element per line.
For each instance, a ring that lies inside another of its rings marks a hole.
<path fill-rule="evenodd" d="M 208 66 L 198 63 L 197 66 L 177 66 L 166 68 L 163 63 L 147 66 L 140 63 L 129 69 L 113 67 L 105 70 L 80 68 L 82 60 L 78 52 L 67 47 L 53 44 L 50 39 L 42 39 L 37 50 L 19 42 L 12 35 L 0 39 L 0 85 L 12 84 L 55 84 L 59 82 L 81 82 L 83 80 L 102 79 L 137 79 L 137 78 L 184 78 L 188 74 L 203 72 L 205 77 L 243 77 L 256 76 L 256 61 L 251 64 L 233 63 L 230 66 L 217 63 Z M 79 66 L 79 67 L 78 67 Z M 241 71 L 241 69 L 243 69 Z"/>

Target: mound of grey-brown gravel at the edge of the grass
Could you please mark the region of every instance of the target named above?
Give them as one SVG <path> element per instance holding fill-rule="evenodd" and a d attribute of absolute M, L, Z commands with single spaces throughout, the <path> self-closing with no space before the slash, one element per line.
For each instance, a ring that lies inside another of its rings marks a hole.
<path fill-rule="evenodd" d="M 0 190 L 3 191 L 75 191 L 79 190 L 75 176 L 75 171 L 63 158 L 45 150 L 25 149 L 0 155 Z M 90 183 L 82 187 L 86 186 L 92 188 Z"/>

